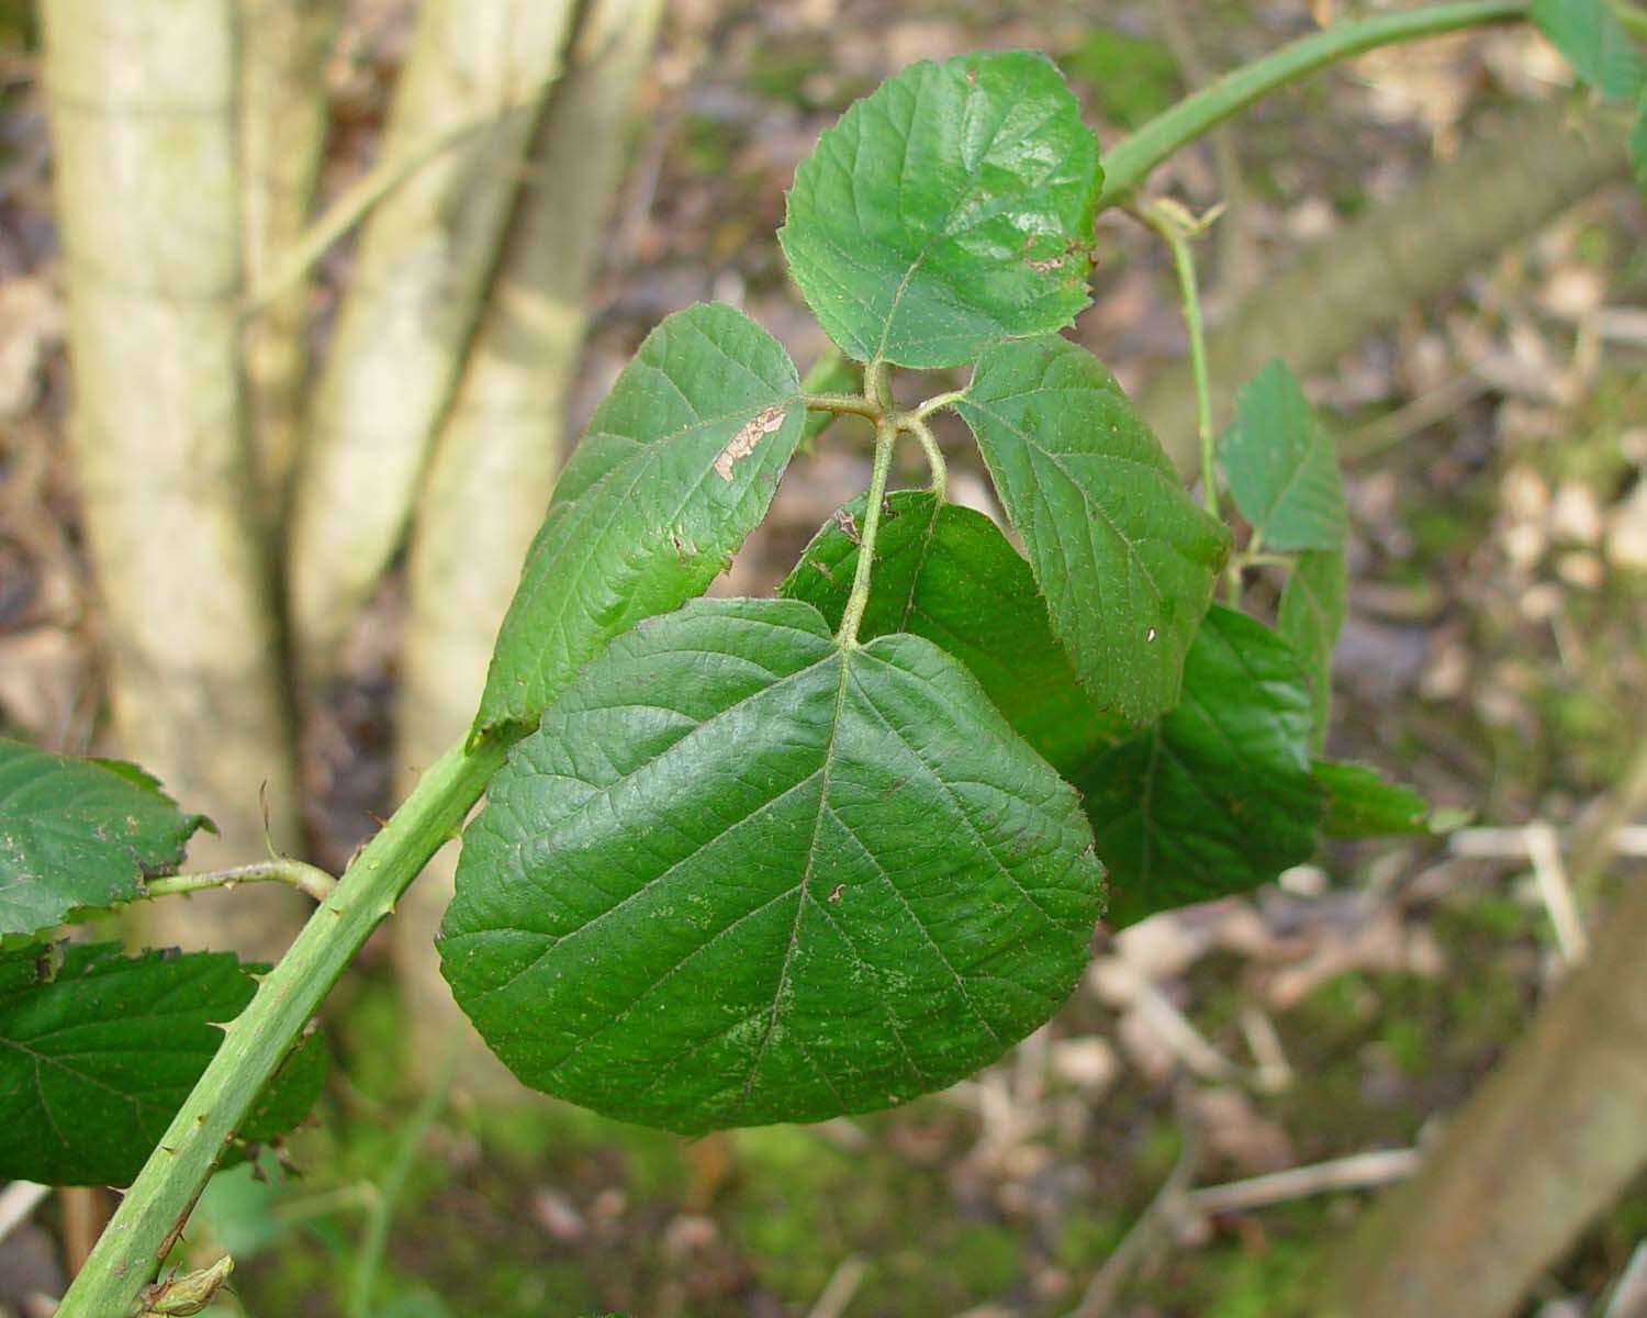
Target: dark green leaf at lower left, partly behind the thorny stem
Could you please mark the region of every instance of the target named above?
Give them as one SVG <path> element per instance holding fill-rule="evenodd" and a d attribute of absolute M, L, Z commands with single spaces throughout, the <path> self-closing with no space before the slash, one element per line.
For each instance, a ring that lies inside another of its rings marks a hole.
<path fill-rule="evenodd" d="M 128 1185 L 254 988 L 227 952 L 0 952 L 0 1176 Z M 270 1081 L 255 1138 L 303 1119 L 323 1064 L 311 1049 Z"/>

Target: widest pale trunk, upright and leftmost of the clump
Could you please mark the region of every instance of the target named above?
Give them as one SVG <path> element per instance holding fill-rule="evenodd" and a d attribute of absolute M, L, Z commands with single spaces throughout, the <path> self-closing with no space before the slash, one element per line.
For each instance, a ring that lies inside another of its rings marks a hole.
<path fill-rule="evenodd" d="M 292 738 L 237 364 L 236 0 L 51 0 L 44 74 L 74 453 L 120 750 L 216 820 L 193 860 L 293 844 Z M 277 952 L 290 893 L 158 903 L 161 939 Z"/>

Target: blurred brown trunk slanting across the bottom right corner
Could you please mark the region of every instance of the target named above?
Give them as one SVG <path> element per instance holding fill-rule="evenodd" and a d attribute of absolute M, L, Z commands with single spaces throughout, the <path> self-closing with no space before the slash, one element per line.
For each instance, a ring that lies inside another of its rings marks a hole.
<path fill-rule="evenodd" d="M 1502 1318 L 1647 1166 L 1647 883 L 1351 1241 L 1326 1313 Z"/>

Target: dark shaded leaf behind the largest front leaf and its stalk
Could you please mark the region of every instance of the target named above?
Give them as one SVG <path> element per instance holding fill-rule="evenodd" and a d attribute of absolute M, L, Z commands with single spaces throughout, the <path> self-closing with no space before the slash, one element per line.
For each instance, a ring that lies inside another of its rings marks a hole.
<path fill-rule="evenodd" d="M 777 588 L 817 608 L 832 629 L 851 595 L 863 509 L 858 498 L 825 522 Z M 960 659 L 1013 730 L 1059 771 L 1128 731 L 1075 685 L 1023 555 L 982 512 L 940 504 L 926 491 L 889 494 L 881 511 L 858 636 L 896 631 Z"/>

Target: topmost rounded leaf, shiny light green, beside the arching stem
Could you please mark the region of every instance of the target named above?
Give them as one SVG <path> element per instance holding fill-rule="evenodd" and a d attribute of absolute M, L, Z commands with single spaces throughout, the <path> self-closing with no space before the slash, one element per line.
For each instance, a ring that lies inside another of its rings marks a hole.
<path fill-rule="evenodd" d="M 825 129 L 777 241 L 858 361 L 962 366 L 1087 305 L 1103 171 L 1046 56 L 911 64 Z"/>

